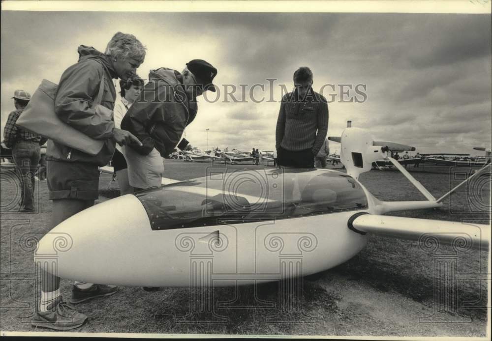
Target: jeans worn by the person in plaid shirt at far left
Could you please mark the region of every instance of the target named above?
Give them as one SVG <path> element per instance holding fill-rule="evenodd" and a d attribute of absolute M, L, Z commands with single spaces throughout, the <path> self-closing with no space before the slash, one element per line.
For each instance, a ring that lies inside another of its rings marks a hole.
<path fill-rule="evenodd" d="M 12 148 L 12 157 L 21 178 L 21 206 L 27 210 L 34 210 L 34 173 L 39 164 L 39 143 L 17 142 Z"/>

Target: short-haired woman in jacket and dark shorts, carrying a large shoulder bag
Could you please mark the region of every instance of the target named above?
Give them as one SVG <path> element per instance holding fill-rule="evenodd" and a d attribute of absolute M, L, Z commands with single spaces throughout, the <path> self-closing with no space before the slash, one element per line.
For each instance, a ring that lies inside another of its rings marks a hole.
<path fill-rule="evenodd" d="M 101 105 L 114 109 L 116 91 L 112 79 L 126 80 L 136 73 L 145 57 L 142 43 L 131 34 L 117 32 L 104 53 L 85 45 L 79 46 L 77 52 L 77 63 L 63 72 L 58 84 L 55 113 L 63 122 L 80 132 L 104 141 L 104 145 L 97 155 L 89 155 L 62 143 L 48 141 L 47 180 L 49 198 L 53 200 L 51 227 L 91 207 L 94 200 L 99 198 L 98 167 L 105 166 L 111 160 L 116 143 L 140 143 L 129 132 L 116 128 L 112 117 L 98 117 L 91 104 L 104 80 Z M 31 325 L 69 330 L 84 324 L 87 316 L 63 301 L 60 278 L 44 270 L 40 271 L 41 297 Z M 118 286 L 115 285 L 76 281 L 72 286 L 70 303 L 86 302 L 113 295 L 117 291 Z"/>

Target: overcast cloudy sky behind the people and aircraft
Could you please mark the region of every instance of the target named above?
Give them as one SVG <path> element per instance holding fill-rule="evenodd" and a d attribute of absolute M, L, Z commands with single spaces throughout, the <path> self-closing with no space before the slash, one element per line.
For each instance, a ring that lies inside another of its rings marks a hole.
<path fill-rule="evenodd" d="M 203 149 L 207 128 L 209 148 L 273 149 L 281 85 L 292 89 L 299 66 L 331 102 L 329 136 L 352 120 L 420 152 L 475 154 L 491 144 L 490 14 L 2 11 L 2 134 L 15 89 L 58 83 L 79 45 L 103 51 L 117 31 L 147 47 L 143 78 L 194 58 L 218 69 L 219 98 L 199 99 L 186 129 Z M 225 95 L 234 86 L 246 103 Z"/>

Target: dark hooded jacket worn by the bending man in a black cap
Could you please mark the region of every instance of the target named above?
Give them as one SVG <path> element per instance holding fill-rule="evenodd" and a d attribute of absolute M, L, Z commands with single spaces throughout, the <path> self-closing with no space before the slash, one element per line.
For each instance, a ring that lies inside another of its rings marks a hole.
<path fill-rule="evenodd" d="M 167 158 L 197 110 L 196 102 L 190 103 L 186 97 L 183 76 L 161 67 L 150 71 L 149 83 L 124 115 L 121 126 L 142 142 L 142 146 L 130 145 L 139 154 L 148 155 L 155 147 Z"/>

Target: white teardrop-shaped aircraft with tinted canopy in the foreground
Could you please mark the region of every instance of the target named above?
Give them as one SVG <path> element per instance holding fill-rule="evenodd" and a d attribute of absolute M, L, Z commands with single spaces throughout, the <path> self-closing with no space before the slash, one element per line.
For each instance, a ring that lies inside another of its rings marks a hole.
<path fill-rule="evenodd" d="M 490 225 L 385 215 L 441 207 L 467 180 L 435 199 L 363 129 L 346 128 L 340 142 L 347 173 L 217 167 L 77 213 L 39 241 L 35 260 L 57 276 L 90 283 L 229 286 L 332 268 L 361 251 L 369 234 L 423 246 L 490 245 Z M 358 177 L 377 160 L 390 161 L 426 199 L 376 199 Z M 490 166 L 470 178 L 486 172 Z"/>

